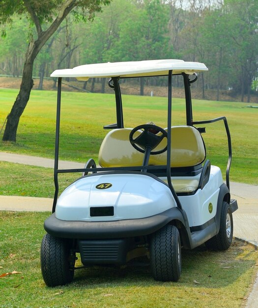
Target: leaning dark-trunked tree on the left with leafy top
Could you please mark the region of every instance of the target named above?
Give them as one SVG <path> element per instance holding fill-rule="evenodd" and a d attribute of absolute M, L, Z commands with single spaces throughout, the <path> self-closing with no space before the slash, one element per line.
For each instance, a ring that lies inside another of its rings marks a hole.
<path fill-rule="evenodd" d="M 26 14 L 34 25 L 36 35 L 30 33 L 29 45 L 25 56 L 20 92 L 7 118 L 3 141 L 16 142 L 20 117 L 29 101 L 33 86 L 33 62 L 48 39 L 57 31 L 65 17 L 73 11 L 75 17 L 92 20 L 94 13 L 100 11 L 101 4 L 110 0 L 1 0 L 0 24 L 12 23 L 15 14 Z"/>

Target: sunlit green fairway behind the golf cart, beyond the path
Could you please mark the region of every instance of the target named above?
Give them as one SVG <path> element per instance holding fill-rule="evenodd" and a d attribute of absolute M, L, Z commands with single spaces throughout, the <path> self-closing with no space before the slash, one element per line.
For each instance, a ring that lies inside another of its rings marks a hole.
<path fill-rule="evenodd" d="M 0 126 L 10 112 L 17 90 L 0 89 Z M 17 143 L 0 141 L 0 151 L 54 157 L 56 95 L 54 91 L 32 91 L 21 117 Z M 226 116 L 232 139 L 233 159 L 230 176 L 235 182 L 258 185 L 258 110 L 245 103 L 194 100 L 194 120 Z M 167 98 L 123 96 L 124 123 L 127 127 L 153 121 L 166 127 Z M 173 99 L 172 124 L 184 124 L 184 100 Z M 62 93 L 60 159 L 86 162 L 97 160 L 101 141 L 107 130 L 103 125 L 115 123 L 113 94 Z M 203 134 L 207 158 L 222 168 L 227 164 L 227 138 L 223 122 L 206 124 Z"/>

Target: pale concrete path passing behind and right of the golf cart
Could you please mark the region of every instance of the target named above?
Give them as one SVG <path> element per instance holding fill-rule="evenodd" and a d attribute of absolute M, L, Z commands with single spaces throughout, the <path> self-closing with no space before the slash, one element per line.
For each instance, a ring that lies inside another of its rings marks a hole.
<path fill-rule="evenodd" d="M 0 161 L 54 168 L 54 160 L 0 152 Z M 59 169 L 84 168 L 85 164 L 59 160 Z M 234 237 L 251 243 L 258 249 L 258 185 L 230 183 L 231 198 L 236 199 L 238 210 L 233 213 Z M 53 199 L 0 196 L 0 211 L 52 211 Z M 258 276 L 246 308 L 258 308 Z"/>

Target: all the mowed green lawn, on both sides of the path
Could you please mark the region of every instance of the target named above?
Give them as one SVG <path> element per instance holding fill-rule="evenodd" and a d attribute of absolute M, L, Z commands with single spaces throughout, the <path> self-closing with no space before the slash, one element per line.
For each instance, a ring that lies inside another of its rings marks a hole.
<path fill-rule="evenodd" d="M 17 90 L 0 89 L 0 127 Z M 54 158 L 56 92 L 32 91 L 20 120 L 17 143 L 0 142 L 0 151 Z M 123 97 L 127 127 L 153 121 L 166 127 L 167 99 Z M 111 94 L 63 92 L 60 159 L 97 160 L 107 130 L 115 123 Z M 257 112 L 243 103 L 194 101 L 194 120 L 227 116 L 232 137 L 231 180 L 258 184 Z M 173 125 L 184 124 L 184 101 L 173 100 Z M 223 123 L 206 125 L 207 157 L 225 172 L 227 139 Z M 2 137 L 2 135 L 0 136 Z M 61 175 L 60 190 L 74 176 Z M 53 170 L 0 162 L 0 194 L 53 197 Z M 46 287 L 40 273 L 39 249 L 50 213 L 0 213 L 0 308 L 13 307 L 242 307 L 257 273 L 253 246 L 234 241 L 229 250 L 205 246 L 182 252 L 182 275 L 177 283 L 155 281 L 148 260 L 123 268 L 87 268 L 75 273 L 66 286 Z M 80 266 L 80 259 L 77 266 Z"/>

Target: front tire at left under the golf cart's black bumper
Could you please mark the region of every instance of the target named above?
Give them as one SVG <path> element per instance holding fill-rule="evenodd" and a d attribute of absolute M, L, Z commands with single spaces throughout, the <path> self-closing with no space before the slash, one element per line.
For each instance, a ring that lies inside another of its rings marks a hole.
<path fill-rule="evenodd" d="M 43 237 L 40 250 L 41 273 L 47 286 L 64 285 L 73 280 L 75 257 L 71 241 L 50 234 Z"/>

